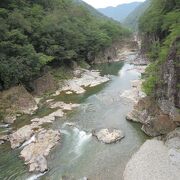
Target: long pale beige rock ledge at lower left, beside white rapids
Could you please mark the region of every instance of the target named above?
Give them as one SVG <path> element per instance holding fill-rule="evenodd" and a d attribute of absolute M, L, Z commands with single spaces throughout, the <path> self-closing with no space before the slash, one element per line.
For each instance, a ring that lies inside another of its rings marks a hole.
<path fill-rule="evenodd" d="M 0 143 L 10 141 L 11 148 L 20 148 L 21 157 L 25 164 L 29 165 L 29 171 L 44 172 L 48 169 L 46 157 L 50 150 L 60 140 L 60 132 L 54 130 L 45 130 L 42 125 L 53 123 L 57 117 L 63 117 L 64 110 L 72 110 L 78 107 L 78 104 L 66 104 L 64 102 L 54 102 L 53 99 L 46 101 L 50 108 L 58 108 L 56 111 L 41 118 L 34 118 L 31 124 L 23 126 L 9 136 L 1 136 Z"/>

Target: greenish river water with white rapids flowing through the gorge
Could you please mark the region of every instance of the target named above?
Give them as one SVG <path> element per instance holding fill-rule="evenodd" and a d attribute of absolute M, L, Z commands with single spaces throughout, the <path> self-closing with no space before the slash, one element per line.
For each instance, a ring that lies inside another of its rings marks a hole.
<path fill-rule="evenodd" d="M 129 57 L 130 58 L 130 57 Z M 132 57 L 131 57 L 132 58 Z M 131 88 L 131 80 L 140 78 L 133 65 L 124 62 L 101 64 L 93 67 L 109 74 L 110 81 L 87 89 L 82 95 L 61 95 L 56 100 L 80 103 L 80 107 L 56 119 L 51 128 L 59 129 L 61 143 L 48 157 L 46 174 L 29 174 L 18 157 L 20 149 L 11 150 L 9 144 L 0 146 L 0 179 L 3 180 L 60 180 L 62 176 L 92 180 L 122 180 L 126 163 L 147 139 L 140 125 L 128 122 L 126 114 L 132 102 L 121 94 Z M 75 127 L 69 127 L 73 122 Z M 91 131 L 99 128 L 121 129 L 125 138 L 115 144 L 103 144 L 92 137 Z"/>

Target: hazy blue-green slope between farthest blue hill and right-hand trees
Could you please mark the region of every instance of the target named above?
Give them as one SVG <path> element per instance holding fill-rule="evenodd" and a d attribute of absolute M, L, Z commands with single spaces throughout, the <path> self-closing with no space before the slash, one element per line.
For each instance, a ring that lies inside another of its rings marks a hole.
<path fill-rule="evenodd" d="M 138 21 L 141 15 L 149 7 L 151 0 L 146 0 L 144 3 L 141 3 L 138 7 L 134 9 L 123 21 L 123 24 L 133 31 L 138 30 Z"/>

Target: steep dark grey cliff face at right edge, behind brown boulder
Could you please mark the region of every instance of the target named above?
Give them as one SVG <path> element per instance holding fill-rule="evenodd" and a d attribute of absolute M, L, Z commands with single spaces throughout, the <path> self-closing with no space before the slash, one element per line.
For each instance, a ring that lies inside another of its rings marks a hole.
<path fill-rule="evenodd" d="M 157 86 L 156 99 L 164 112 L 170 114 L 175 122 L 180 123 L 180 37 L 170 50 L 167 60 L 162 65 L 162 84 Z"/>

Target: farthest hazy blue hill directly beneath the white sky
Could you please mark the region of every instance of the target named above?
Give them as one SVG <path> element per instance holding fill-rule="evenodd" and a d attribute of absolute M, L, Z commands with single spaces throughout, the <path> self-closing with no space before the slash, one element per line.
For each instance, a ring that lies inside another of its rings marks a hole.
<path fill-rule="evenodd" d="M 124 19 L 140 4 L 142 4 L 142 2 L 133 2 L 129 4 L 121 4 L 116 7 L 100 8 L 97 10 L 102 14 L 113 18 L 114 20 L 123 22 Z"/>

